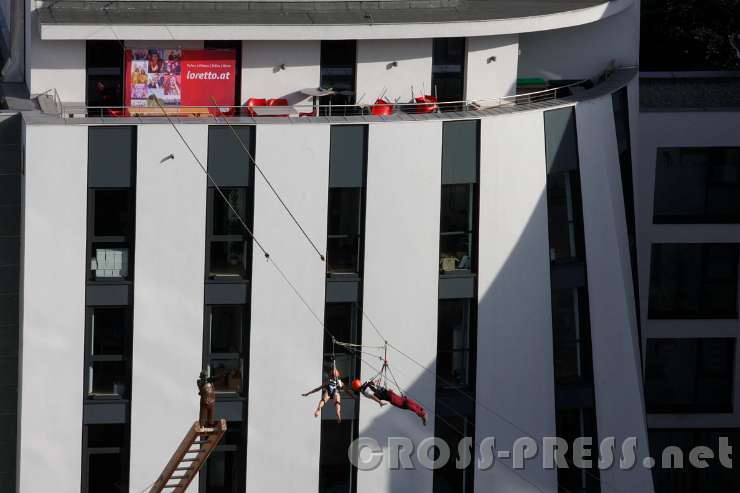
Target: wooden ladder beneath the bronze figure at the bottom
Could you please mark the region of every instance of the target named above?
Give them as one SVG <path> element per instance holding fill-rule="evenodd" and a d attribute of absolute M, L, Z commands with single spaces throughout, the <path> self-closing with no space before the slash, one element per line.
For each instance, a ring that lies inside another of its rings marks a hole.
<path fill-rule="evenodd" d="M 206 459 L 226 433 L 226 420 L 222 419 L 215 428 L 201 428 L 196 421 L 185 434 L 162 474 L 149 493 L 184 493 Z"/>

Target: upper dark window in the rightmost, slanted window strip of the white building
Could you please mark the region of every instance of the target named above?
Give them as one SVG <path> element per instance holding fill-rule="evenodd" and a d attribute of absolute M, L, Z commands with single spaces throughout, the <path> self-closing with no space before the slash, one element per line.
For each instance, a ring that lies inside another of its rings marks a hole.
<path fill-rule="evenodd" d="M 547 176 L 548 234 L 550 260 L 583 259 L 580 180 L 577 171 L 550 173 Z"/>

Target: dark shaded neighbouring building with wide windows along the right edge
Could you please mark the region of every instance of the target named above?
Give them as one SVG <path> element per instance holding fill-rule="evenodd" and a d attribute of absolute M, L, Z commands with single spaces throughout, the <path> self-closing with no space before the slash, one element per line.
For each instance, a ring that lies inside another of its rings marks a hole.
<path fill-rule="evenodd" d="M 643 6 L 637 221 L 654 454 L 740 437 L 740 53 L 728 40 L 740 29 L 722 6 L 701 8 Z M 655 470 L 656 491 L 738 488 L 737 467 Z"/>

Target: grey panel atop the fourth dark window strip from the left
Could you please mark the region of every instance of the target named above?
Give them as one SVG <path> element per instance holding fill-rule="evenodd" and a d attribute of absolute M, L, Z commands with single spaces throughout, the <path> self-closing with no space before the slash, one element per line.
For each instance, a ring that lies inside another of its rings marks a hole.
<path fill-rule="evenodd" d="M 442 126 L 442 184 L 478 181 L 478 120 L 444 122 Z"/>

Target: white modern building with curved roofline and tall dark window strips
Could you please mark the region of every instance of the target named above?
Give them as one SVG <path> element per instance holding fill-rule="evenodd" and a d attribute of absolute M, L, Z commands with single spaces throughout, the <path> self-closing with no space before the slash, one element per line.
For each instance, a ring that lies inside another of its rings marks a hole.
<path fill-rule="evenodd" d="M 652 385 L 653 339 L 675 330 L 648 313 L 690 303 L 656 305 L 651 255 L 722 259 L 702 274 L 722 296 L 738 258 L 651 254 L 709 236 L 651 222 L 650 146 L 681 145 L 638 133 L 660 117 L 639 109 L 639 2 L 0 11 L 5 80 L 30 97 L 0 113 L 0 491 L 146 491 L 197 416 L 201 368 L 229 431 L 190 491 L 658 491 L 648 427 L 693 425 L 653 413 L 650 391 L 646 414 L 643 364 Z M 659 167 L 681 156 L 660 152 Z M 712 243 L 736 234 L 721 228 Z M 713 338 L 735 337 L 734 281 Z M 725 342 L 702 351 L 736 373 Z M 387 356 L 427 426 L 367 399 L 314 419 L 300 394 L 332 355 L 346 382 Z M 737 412 L 710 380 L 695 385 Z M 360 470 L 347 453 L 433 436 L 498 451 L 613 437 L 617 465 L 569 452 L 553 469 L 541 447 L 521 468 L 390 468 L 386 453 Z"/>

